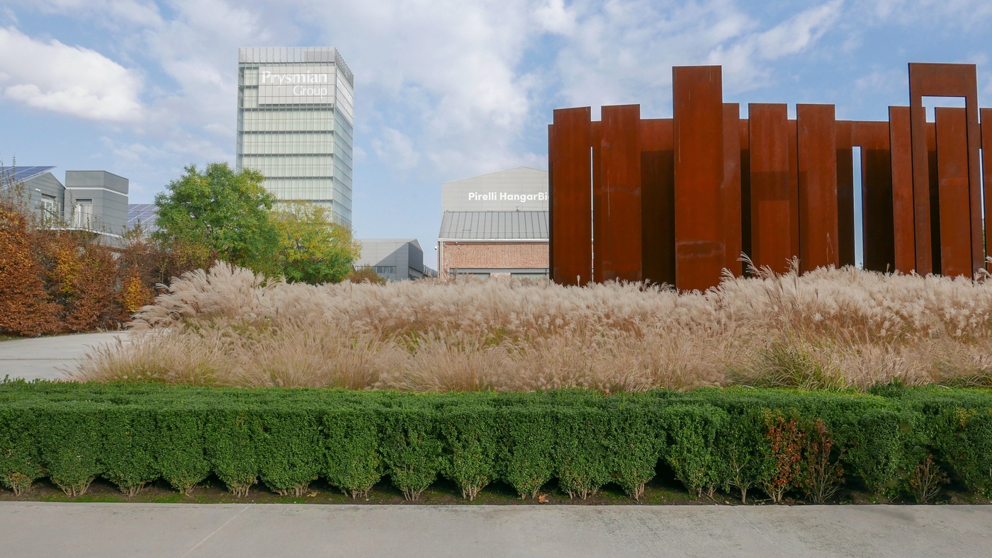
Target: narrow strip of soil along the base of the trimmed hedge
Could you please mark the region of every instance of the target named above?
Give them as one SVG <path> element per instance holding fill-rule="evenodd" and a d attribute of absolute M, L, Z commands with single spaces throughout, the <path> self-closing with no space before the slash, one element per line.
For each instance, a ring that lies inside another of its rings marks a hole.
<path fill-rule="evenodd" d="M 494 483 L 485 488 L 474 501 L 461 498 L 458 488 L 446 480 L 438 480 L 431 488 L 424 491 L 416 502 L 408 502 L 403 493 L 394 488 L 389 479 L 384 479 L 370 492 L 368 499 L 352 500 L 339 490 L 323 481 L 310 484 L 307 496 L 296 498 L 279 496 L 261 484 L 252 488 L 247 497 L 238 498 L 232 495 L 214 476 L 196 486 L 189 496 L 177 493 L 165 481 L 149 485 L 133 499 L 121 494 L 117 487 L 103 479 L 96 479 L 89 486 L 86 494 L 78 498 L 70 498 L 62 490 L 53 485 L 48 479 L 35 483 L 26 494 L 15 497 L 8 490 L 0 490 L 0 502 L 139 502 L 139 503 L 357 503 L 357 504 L 409 504 L 409 505 L 740 505 L 739 495 L 716 493 L 712 498 L 703 495 L 699 498 L 690 497 L 677 481 L 665 483 L 656 478 L 647 484 L 644 496 L 639 501 L 628 498 L 620 487 L 607 485 L 595 496 L 585 500 L 569 499 L 568 495 L 558 490 L 557 481 L 552 481 L 541 491 L 544 497 L 538 499 L 520 499 L 512 487 L 504 483 Z M 808 502 L 786 498 L 783 502 L 788 505 L 804 505 Z M 897 498 L 891 502 L 879 502 L 863 490 L 841 490 L 837 496 L 826 503 L 855 504 L 855 503 L 904 503 L 915 504 L 912 498 Z M 992 501 L 975 497 L 963 490 L 945 490 L 932 503 L 971 503 L 988 504 Z M 747 505 L 771 505 L 772 501 L 764 498 L 758 491 L 748 493 Z"/>

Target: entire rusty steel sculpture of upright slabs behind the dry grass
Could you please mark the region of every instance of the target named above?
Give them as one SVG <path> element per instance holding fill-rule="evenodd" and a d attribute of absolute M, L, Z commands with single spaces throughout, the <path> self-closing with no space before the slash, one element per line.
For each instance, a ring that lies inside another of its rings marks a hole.
<path fill-rule="evenodd" d="M 704 289 L 741 253 L 776 272 L 855 260 L 853 150 L 861 150 L 864 267 L 971 275 L 992 215 L 992 109 L 974 64 L 911 63 L 910 106 L 888 122 L 833 105 L 724 103 L 720 66 L 673 68 L 673 118 L 640 105 L 555 110 L 549 126 L 552 278 Z M 964 97 L 927 122 L 923 97 Z M 981 119 L 979 120 L 979 113 Z M 982 126 L 984 123 L 984 126 Z M 984 232 L 983 232 L 984 231 Z"/>

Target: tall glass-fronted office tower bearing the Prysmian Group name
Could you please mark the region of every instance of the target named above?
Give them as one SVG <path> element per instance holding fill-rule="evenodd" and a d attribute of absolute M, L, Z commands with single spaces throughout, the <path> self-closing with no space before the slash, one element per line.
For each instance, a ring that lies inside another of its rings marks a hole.
<path fill-rule="evenodd" d="M 237 168 L 351 226 L 354 77 L 333 48 L 238 50 Z"/>

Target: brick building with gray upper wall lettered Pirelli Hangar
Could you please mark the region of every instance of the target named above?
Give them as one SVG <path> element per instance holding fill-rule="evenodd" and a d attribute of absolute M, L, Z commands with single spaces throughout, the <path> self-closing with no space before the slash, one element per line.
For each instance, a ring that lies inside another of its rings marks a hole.
<path fill-rule="evenodd" d="M 548 277 L 548 172 L 517 167 L 441 185 L 441 277 Z"/>

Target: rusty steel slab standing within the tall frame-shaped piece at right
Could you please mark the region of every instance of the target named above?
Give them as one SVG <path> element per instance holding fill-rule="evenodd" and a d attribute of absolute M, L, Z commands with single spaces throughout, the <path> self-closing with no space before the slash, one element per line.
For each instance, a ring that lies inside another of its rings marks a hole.
<path fill-rule="evenodd" d="M 968 193 L 967 116 L 964 109 L 936 107 L 936 168 L 940 196 L 940 271 L 973 273 Z"/>

